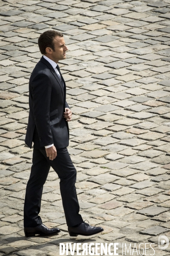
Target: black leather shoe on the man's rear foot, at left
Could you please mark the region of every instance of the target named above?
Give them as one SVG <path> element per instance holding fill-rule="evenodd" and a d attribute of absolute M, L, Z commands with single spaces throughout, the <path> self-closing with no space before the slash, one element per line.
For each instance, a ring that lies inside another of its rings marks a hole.
<path fill-rule="evenodd" d="M 52 236 L 59 233 L 59 228 L 48 228 L 44 224 L 37 227 L 24 227 L 24 233 L 26 237 L 41 235 L 41 236 Z"/>

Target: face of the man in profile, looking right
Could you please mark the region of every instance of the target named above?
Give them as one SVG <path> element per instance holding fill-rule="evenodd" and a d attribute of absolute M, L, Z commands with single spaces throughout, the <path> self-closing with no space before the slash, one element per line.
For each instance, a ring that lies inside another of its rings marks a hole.
<path fill-rule="evenodd" d="M 54 38 L 54 51 L 50 47 L 47 47 L 45 55 L 58 63 L 58 61 L 64 60 L 66 58 L 66 51 L 68 51 L 68 48 L 65 46 L 64 38 L 56 36 Z"/>

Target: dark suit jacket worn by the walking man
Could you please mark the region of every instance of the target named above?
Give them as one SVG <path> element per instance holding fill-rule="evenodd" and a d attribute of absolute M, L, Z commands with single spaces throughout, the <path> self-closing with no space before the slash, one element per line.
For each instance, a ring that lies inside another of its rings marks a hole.
<path fill-rule="evenodd" d="M 51 64 L 41 58 L 29 80 L 29 117 L 25 143 L 40 148 L 54 143 L 65 148 L 69 142 L 68 122 L 63 117 L 66 102 L 64 87 Z"/>

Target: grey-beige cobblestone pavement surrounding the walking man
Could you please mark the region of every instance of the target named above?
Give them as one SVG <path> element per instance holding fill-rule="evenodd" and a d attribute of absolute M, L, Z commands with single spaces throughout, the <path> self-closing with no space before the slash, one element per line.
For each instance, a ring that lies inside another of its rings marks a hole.
<path fill-rule="evenodd" d="M 170 255 L 157 245 L 170 238 L 170 0 L 4 0 L 0 17 L 0 256 L 57 256 L 60 242 L 153 242 L 154 255 Z M 60 67 L 81 214 L 104 228 L 92 237 L 68 236 L 53 169 L 41 217 L 62 232 L 23 233 L 28 79 L 48 29 L 69 48 Z"/>

